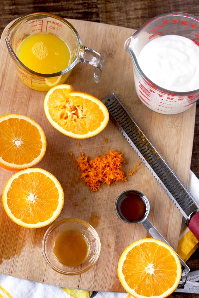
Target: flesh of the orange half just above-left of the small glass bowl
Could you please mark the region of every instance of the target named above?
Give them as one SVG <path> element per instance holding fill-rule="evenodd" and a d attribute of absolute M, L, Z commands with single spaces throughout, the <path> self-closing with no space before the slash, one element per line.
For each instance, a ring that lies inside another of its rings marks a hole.
<path fill-rule="evenodd" d="M 7 192 L 12 214 L 27 224 L 48 220 L 58 206 L 59 193 L 55 183 L 43 173 L 21 174 Z"/>

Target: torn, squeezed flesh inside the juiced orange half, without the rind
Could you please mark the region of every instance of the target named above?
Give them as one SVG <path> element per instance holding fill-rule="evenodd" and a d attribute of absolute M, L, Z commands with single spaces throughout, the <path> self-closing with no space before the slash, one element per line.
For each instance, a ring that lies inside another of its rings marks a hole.
<path fill-rule="evenodd" d="M 61 128 L 73 134 L 95 131 L 104 121 L 99 106 L 87 98 L 70 96 L 70 89 L 56 89 L 48 99 L 50 117 Z"/>

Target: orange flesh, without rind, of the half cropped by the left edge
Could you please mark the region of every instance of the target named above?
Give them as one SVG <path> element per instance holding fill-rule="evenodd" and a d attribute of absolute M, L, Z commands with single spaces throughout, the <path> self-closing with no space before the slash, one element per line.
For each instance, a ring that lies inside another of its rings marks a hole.
<path fill-rule="evenodd" d="M 26 164 L 39 156 L 41 135 L 24 119 L 10 118 L 0 122 L 0 156 L 9 163 Z"/>

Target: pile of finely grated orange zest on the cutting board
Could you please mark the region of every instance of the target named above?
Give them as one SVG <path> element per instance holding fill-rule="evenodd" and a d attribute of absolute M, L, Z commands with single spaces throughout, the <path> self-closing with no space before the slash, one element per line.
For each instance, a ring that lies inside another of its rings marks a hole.
<path fill-rule="evenodd" d="M 92 192 L 97 191 L 101 183 L 110 185 L 116 181 L 127 181 L 127 177 L 121 170 L 124 163 L 122 153 L 115 150 L 110 150 L 103 156 L 96 156 L 91 161 L 84 153 L 81 153 L 77 159 L 77 166 L 82 172 L 81 178 L 84 178 Z"/>

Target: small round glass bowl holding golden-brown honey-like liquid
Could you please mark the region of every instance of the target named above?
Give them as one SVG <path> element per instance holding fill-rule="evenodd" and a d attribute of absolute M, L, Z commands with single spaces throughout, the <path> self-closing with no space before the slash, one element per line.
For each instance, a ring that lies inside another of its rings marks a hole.
<path fill-rule="evenodd" d="M 98 260 L 100 247 L 95 229 L 78 218 L 53 223 L 42 240 L 42 253 L 47 264 L 66 275 L 89 270 Z"/>

